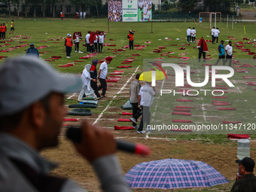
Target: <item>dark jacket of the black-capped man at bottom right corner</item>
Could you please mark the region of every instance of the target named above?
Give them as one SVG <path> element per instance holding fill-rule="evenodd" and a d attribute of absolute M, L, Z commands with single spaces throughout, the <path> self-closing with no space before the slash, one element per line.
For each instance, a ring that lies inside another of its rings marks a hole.
<path fill-rule="evenodd" d="M 242 175 L 242 178 L 233 184 L 231 192 L 255 192 L 256 177 L 253 173 Z"/>

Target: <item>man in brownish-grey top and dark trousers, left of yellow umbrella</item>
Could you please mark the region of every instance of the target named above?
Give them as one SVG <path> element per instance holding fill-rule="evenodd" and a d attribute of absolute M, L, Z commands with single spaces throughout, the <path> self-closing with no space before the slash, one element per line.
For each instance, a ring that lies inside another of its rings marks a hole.
<path fill-rule="evenodd" d="M 133 128 L 138 129 L 137 125 L 138 118 L 142 115 L 141 109 L 139 108 L 139 90 L 141 89 L 141 84 L 139 84 L 139 76 L 138 73 L 136 75 L 136 79 L 130 84 L 130 99 L 133 106 L 133 117 L 130 120 L 133 122 Z"/>

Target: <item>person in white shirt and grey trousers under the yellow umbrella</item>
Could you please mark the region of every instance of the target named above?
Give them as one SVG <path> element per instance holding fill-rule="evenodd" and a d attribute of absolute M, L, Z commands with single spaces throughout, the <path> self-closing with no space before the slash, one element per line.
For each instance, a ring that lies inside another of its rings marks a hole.
<path fill-rule="evenodd" d="M 139 105 L 142 107 L 142 118 L 139 123 L 139 129 L 137 133 L 145 133 L 143 131 L 143 126 L 146 123 L 146 129 L 150 126 L 151 112 L 150 107 L 152 105 L 152 96 L 156 95 L 154 87 L 151 87 L 150 82 L 145 81 L 145 85 L 139 90 Z"/>

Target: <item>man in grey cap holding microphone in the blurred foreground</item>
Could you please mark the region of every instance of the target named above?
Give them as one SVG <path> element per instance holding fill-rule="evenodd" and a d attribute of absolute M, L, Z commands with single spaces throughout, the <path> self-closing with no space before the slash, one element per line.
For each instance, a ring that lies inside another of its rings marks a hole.
<path fill-rule="evenodd" d="M 58 145 L 67 114 L 64 94 L 80 89 L 81 78 L 61 75 L 35 56 L 6 59 L 0 66 L 0 191 L 85 192 L 72 179 L 52 175 L 57 164 L 39 153 Z M 74 147 L 93 166 L 102 190 L 129 192 L 113 134 L 87 120 L 81 131 Z"/>

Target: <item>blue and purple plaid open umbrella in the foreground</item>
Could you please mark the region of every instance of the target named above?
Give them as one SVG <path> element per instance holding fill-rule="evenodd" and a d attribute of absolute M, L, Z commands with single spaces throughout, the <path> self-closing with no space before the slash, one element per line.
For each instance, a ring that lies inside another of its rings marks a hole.
<path fill-rule="evenodd" d="M 175 189 L 228 183 L 227 178 L 207 163 L 178 159 L 139 163 L 124 178 L 133 188 Z"/>

